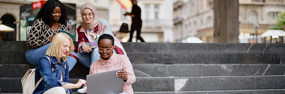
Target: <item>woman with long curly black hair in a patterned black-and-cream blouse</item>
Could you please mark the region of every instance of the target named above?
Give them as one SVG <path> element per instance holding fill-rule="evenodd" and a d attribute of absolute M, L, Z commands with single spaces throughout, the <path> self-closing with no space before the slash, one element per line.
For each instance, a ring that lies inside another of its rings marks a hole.
<path fill-rule="evenodd" d="M 35 16 L 35 22 L 27 37 L 26 59 L 29 63 L 37 65 L 39 58 L 45 55 L 53 37 L 59 30 L 69 32 L 67 22 L 67 11 L 63 3 L 59 0 L 48 0 L 43 4 Z M 69 54 L 67 58 L 69 71 L 74 67 L 77 59 L 75 52 Z"/>

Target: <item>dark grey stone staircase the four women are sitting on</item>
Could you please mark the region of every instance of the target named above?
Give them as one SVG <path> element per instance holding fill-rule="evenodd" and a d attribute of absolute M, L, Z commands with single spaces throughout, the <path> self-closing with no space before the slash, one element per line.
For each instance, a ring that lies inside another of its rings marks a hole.
<path fill-rule="evenodd" d="M 35 68 L 26 60 L 26 41 L 1 41 L 0 45 L 0 92 L 21 93 L 22 76 Z M 136 75 L 135 94 L 285 94 L 285 44 L 122 45 Z M 88 68 L 77 63 L 70 71 L 70 82 L 85 79 L 88 73 Z"/>

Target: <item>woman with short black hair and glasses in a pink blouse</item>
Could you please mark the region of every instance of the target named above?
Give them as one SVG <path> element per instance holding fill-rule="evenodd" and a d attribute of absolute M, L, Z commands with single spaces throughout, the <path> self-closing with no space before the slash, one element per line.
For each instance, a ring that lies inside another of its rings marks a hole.
<path fill-rule="evenodd" d="M 96 74 L 111 70 L 124 69 L 115 75 L 123 78 L 123 92 L 120 94 L 133 94 L 132 84 L 136 81 L 136 76 L 132 69 L 132 64 L 127 56 L 116 54 L 114 49 L 114 38 L 110 34 L 102 34 L 98 39 L 98 50 L 100 59 L 90 66 L 89 74 Z"/>

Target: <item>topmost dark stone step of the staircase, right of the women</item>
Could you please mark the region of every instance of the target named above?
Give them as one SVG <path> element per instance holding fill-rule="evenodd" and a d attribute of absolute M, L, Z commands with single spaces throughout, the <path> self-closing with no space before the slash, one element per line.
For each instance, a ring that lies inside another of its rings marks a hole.
<path fill-rule="evenodd" d="M 122 42 L 126 52 L 282 53 L 285 44 L 264 43 L 142 43 Z"/>

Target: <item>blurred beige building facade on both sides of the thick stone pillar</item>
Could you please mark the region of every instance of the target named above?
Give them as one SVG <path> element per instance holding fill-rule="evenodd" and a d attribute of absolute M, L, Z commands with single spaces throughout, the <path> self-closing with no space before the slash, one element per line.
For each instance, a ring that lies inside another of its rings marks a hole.
<path fill-rule="evenodd" d="M 177 0 L 173 3 L 174 42 L 196 36 L 213 42 L 214 0 Z M 239 33 L 262 34 L 285 11 L 284 0 L 239 0 Z M 259 28 L 255 31 L 254 24 Z"/>

